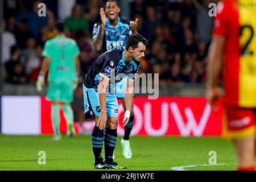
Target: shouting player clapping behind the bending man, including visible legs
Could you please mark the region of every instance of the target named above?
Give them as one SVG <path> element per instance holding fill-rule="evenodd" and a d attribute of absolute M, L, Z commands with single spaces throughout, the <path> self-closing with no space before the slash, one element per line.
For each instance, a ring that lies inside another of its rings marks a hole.
<path fill-rule="evenodd" d="M 101 22 L 94 24 L 93 27 L 93 45 L 97 51 L 103 53 L 112 49 L 125 49 L 126 40 L 129 36 L 137 34 L 138 19 L 130 22 L 129 20 L 121 19 L 119 18 L 120 11 L 119 2 L 115 0 L 106 2 L 105 11 L 103 8 L 100 9 Z M 125 104 L 126 83 L 127 77 L 115 84 L 115 95 L 118 99 L 121 99 L 123 110 L 127 109 Z M 125 126 L 125 134 L 121 140 L 123 156 L 127 159 L 132 156 L 129 139 L 134 123 L 133 103 L 131 107 L 130 120 Z"/>

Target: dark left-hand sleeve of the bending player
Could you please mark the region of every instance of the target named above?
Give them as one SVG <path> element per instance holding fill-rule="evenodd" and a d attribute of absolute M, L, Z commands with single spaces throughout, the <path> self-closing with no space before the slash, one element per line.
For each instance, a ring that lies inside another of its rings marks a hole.
<path fill-rule="evenodd" d="M 115 72 L 114 61 L 110 59 L 110 55 L 104 54 L 98 57 L 98 67 L 100 68 L 99 75 L 110 80 L 111 76 Z"/>

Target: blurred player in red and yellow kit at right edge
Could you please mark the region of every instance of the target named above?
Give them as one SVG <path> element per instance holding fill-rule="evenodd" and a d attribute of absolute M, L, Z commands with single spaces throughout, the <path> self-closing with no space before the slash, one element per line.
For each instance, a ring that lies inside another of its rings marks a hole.
<path fill-rule="evenodd" d="M 221 96 L 218 81 L 223 73 L 225 89 L 223 137 L 232 139 L 237 169 L 254 170 L 256 108 L 256 9 L 254 0 L 226 0 L 217 6 L 213 40 L 209 50 L 207 96 L 216 110 Z"/>

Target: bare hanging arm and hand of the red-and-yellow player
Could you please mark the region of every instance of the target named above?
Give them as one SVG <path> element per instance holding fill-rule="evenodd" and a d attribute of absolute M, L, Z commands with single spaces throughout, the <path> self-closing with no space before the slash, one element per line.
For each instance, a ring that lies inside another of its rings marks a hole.
<path fill-rule="evenodd" d="M 217 110 L 214 102 L 221 96 L 221 90 L 218 87 L 219 78 L 222 70 L 222 61 L 224 59 L 224 36 L 213 36 L 212 44 L 209 48 L 208 65 L 207 65 L 207 98 L 213 111 Z"/>

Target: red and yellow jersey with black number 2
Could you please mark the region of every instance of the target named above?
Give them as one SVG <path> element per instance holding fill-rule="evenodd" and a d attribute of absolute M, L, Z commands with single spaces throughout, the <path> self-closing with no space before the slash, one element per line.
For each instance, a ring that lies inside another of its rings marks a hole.
<path fill-rule="evenodd" d="M 213 35 L 225 36 L 224 105 L 256 107 L 256 0 L 218 3 Z"/>

